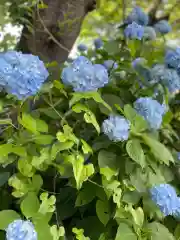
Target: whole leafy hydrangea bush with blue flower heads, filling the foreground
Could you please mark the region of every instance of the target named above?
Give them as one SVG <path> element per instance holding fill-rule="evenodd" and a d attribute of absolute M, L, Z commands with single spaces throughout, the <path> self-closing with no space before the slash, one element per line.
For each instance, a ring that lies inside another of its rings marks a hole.
<path fill-rule="evenodd" d="M 180 48 L 148 21 L 134 8 L 56 80 L 53 63 L 0 54 L 1 239 L 180 238 Z"/>

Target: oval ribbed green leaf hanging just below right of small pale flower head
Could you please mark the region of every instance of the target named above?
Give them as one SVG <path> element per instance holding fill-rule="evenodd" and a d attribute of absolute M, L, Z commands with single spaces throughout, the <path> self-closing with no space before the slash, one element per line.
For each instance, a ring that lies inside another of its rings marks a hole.
<path fill-rule="evenodd" d="M 126 143 L 126 151 L 129 157 L 138 163 L 142 168 L 146 166 L 145 155 L 138 139 L 129 140 Z"/>

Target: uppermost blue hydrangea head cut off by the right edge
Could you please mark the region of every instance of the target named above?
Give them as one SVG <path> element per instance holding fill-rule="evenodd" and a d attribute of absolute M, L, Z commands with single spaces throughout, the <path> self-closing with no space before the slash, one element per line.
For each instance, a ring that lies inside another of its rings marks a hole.
<path fill-rule="evenodd" d="M 180 72 L 180 47 L 177 47 L 175 50 L 167 51 L 165 63 L 168 67 L 174 68 Z"/>

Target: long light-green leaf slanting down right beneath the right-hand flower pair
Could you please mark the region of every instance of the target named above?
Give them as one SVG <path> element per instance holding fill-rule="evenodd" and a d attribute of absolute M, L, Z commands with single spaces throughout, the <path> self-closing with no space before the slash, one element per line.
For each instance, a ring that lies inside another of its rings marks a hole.
<path fill-rule="evenodd" d="M 171 152 L 159 141 L 147 135 L 142 136 L 145 143 L 150 147 L 152 154 L 161 162 L 169 165 L 169 162 L 174 162 Z"/>

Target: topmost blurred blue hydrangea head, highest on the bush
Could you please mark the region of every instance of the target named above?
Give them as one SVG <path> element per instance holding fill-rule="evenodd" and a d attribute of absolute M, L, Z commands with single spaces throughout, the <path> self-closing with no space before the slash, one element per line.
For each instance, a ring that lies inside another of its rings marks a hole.
<path fill-rule="evenodd" d="M 135 7 L 132 12 L 129 14 L 125 23 L 131 24 L 132 22 L 136 22 L 139 25 L 146 26 L 149 22 L 148 15 L 142 10 L 140 7 Z"/>

